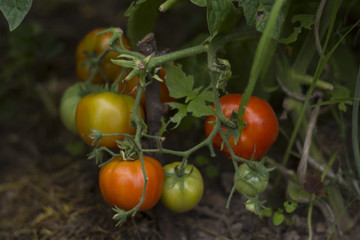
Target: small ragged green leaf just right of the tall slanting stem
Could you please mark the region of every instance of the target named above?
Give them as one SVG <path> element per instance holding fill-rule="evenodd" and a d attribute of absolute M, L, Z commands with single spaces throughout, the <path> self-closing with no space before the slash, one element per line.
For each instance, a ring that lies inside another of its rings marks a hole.
<path fill-rule="evenodd" d="M 292 23 L 299 22 L 300 26 L 294 27 L 294 31 L 292 32 L 292 34 L 290 34 L 290 36 L 288 36 L 287 38 L 280 39 L 279 42 L 285 43 L 285 44 L 295 42 L 303 28 L 306 28 L 308 30 L 311 29 L 311 26 L 314 25 L 314 23 L 315 23 L 315 16 L 312 14 L 294 15 L 291 19 L 291 22 Z"/>

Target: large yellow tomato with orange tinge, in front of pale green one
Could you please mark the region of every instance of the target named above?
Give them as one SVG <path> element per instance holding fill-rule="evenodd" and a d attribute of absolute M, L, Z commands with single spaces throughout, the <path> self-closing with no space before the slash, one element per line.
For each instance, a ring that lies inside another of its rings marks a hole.
<path fill-rule="evenodd" d="M 82 98 L 76 109 L 76 128 L 80 137 L 89 145 L 93 139 L 89 137 L 92 130 L 102 133 L 135 134 L 136 129 L 130 125 L 131 113 L 135 99 L 128 95 L 119 95 L 113 92 L 89 94 Z M 144 112 L 139 106 L 138 114 L 144 118 Z M 103 137 L 99 146 L 115 148 L 115 140 L 123 137 Z"/>

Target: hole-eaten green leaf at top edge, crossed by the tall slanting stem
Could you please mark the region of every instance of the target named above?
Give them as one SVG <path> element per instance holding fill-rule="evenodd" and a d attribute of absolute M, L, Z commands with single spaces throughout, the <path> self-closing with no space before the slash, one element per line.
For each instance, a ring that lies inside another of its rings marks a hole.
<path fill-rule="evenodd" d="M 255 25 L 256 30 L 263 32 L 275 2 L 276 0 L 239 0 L 239 7 L 244 9 L 247 24 Z M 284 8 L 282 8 L 277 17 L 275 29 L 272 32 L 274 39 L 279 39 L 281 26 L 284 21 L 285 12 Z"/>

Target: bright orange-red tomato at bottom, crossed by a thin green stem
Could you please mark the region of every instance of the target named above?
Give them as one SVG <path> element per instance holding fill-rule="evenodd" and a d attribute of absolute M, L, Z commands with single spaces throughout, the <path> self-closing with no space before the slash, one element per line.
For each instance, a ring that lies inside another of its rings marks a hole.
<path fill-rule="evenodd" d="M 164 171 L 154 158 L 144 156 L 144 166 L 148 182 L 145 200 L 139 210 L 148 210 L 159 201 L 164 185 Z M 112 207 L 130 210 L 140 203 L 144 189 L 144 175 L 140 159 L 122 161 L 113 159 L 100 169 L 100 191 L 105 201 Z"/>

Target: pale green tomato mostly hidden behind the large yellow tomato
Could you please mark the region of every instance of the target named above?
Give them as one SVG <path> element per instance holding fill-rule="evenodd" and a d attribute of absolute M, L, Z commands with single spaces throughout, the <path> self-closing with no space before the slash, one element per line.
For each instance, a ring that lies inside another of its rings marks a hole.
<path fill-rule="evenodd" d="M 75 83 L 68 87 L 64 94 L 62 95 L 60 101 L 60 118 L 65 127 L 73 133 L 77 133 L 76 124 L 75 124 L 75 115 L 76 108 L 80 100 L 94 92 L 99 92 L 100 86 L 85 84 L 85 83 Z"/>

